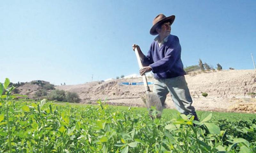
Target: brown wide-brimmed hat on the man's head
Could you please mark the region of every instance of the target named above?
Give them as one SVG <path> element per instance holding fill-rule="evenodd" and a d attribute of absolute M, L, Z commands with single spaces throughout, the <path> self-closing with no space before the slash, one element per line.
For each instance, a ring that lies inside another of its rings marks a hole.
<path fill-rule="evenodd" d="M 157 35 L 158 33 L 156 32 L 156 27 L 164 22 L 170 22 L 170 25 L 172 25 L 173 21 L 175 19 L 175 16 L 172 15 L 170 17 L 166 17 L 164 14 L 159 14 L 154 18 L 153 20 L 153 26 L 150 29 L 150 34 L 151 35 Z"/>

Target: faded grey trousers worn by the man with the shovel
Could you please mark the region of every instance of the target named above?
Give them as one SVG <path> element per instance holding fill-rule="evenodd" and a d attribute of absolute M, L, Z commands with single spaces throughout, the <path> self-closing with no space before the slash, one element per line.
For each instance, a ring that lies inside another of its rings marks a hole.
<path fill-rule="evenodd" d="M 195 107 L 192 106 L 193 101 L 184 76 L 169 79 L 155 79 L 153 92 L 158 95 L 163 106 L 166 96 L 170 92 L 172 100 L 180 113 L 196 116 Z"/>

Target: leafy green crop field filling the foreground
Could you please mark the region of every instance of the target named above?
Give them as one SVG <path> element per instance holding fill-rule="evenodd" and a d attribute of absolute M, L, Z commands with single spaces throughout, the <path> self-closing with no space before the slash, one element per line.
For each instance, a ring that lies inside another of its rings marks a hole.
<path fill-rule="evenodd" d="M 256 152 L 255 114 L 164 109 L 154 120 L 145 108 L 14 100 L 0 84 L 0 152 Z M 154 115 L 154 114 L 153 114 Z"/>

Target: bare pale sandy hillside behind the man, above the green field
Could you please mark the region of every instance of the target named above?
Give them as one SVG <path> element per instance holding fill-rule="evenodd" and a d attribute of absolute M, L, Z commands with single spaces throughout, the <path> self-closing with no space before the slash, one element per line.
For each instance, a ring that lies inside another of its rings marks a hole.
<path fill-rule="evenodd" d="M 256 112 L 256 98 L 248 93 L 256 92 L 255 70 L 221 70 L 204 73 L 192 72 L 185 76 L 197 110 L 225 112 Z M 143 85 L 125 85 L 123 83 L 142 82 L 142 78 L 113 79 L 105 82 L 90 82 L 77 85 L 62 85 L 56 89 L 77 92 L 80 103 L 94 104 L 97 99 L 107 98 L 111 105 L 144 106 Z M 148 77 L 148 82 L 154 78 Z M 153 89 L 153 85 L 149 85 Z M 208 93 L 205 98 L 202 92 Z M 171 95 L 168 94 L 166 107 L 174 108 Z"/>

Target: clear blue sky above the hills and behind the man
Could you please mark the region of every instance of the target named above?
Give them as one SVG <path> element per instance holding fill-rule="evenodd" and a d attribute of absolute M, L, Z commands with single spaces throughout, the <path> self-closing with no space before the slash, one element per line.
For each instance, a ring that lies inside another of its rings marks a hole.
<path fill-rule="evenodd" d="M 253 69 L 256 1 L 0 1 L 0 82 L 83 84 L 139 71 L 157 14 L 175 15 L 171 34 L 184 66 Z"/>

